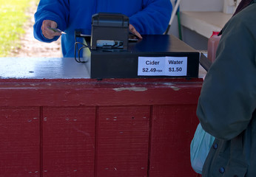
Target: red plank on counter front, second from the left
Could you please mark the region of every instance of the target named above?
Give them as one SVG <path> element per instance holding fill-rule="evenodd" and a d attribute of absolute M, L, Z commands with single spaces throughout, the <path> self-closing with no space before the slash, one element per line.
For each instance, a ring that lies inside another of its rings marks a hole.
<path fill-rule="evenodd" d="M 94 176 L 95 108 L 44 107 L 43 176 Z"/>

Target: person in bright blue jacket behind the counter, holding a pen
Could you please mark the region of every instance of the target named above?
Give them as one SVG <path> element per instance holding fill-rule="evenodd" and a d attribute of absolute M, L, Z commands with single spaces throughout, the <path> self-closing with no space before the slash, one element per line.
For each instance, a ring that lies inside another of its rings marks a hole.
<path fill-rule="evenodd" d="M 129 31 L 141 38 L 163 34 L 172 14 L 169 0 L 41 0 L 35 13 L 34 36 L 38 41 L 53 42 L 61 35 L 49 27 L 66 32 L 61 35 L 64 57 L 74 56 L 75 30 L 91 33 L 95 13 L 122 13 L 129 17 Z"/>

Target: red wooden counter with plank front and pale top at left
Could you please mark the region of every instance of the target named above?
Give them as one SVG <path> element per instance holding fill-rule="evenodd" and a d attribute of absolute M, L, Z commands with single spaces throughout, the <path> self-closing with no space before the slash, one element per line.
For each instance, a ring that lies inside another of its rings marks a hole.
<path fill-rule="evenodd" d="M 196 176 L 202 79 L 92 80 L 70 58 L 0 62 L 1 177 Z"/>

